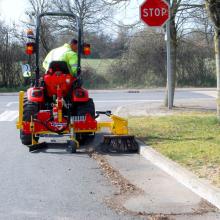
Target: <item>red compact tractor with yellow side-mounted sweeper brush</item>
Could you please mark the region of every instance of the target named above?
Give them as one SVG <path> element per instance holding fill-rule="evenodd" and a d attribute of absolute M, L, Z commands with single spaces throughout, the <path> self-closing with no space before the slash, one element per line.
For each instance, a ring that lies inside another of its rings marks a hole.
<path fill-rule="evenodd" d="M 49 69 L 40 77 L 39 41 L 41 19 L 45 16 L 67 16 L 74 18 L 78 32 L 77 76 L 69 73 L 63 61 L 53 61 Z M 128 135 L 128 123 L 125 119 L 111 114 L 110 111 L 95 111 L 93 99 L 82 87 L 80 78 L 81 56 L 90 54 L 90 45 L 82 43 L 80 19 L 70 13 L 42 13 L 37 17 L 36 35 L 28 31 L 26 45 L 28 55 L 35 54 L 35 80 L 27 92 L 19 93 L 19 119 L 22 144 L 30 151 L 47 146 L 47 142 L 38 142 L 41 137 L 66 136 L 67 149 L 74 153 L 80 142 L 94 136 L 102 128 L 109 128 L 111 134 L 104 136 L 104 143 L 116 152 L 137 151 L 137 143 Z M 111 121 L 97 121 L 100 114 L 110 117 Z"/>

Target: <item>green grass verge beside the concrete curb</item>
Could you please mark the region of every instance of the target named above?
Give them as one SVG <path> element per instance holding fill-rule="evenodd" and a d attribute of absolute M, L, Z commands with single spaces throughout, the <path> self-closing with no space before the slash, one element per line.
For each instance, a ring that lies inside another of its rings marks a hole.
<path fill-rule="evenodd" d="M 130 132 L 220 187 L 220 122 L 214 114 L 129 119 Z"/>

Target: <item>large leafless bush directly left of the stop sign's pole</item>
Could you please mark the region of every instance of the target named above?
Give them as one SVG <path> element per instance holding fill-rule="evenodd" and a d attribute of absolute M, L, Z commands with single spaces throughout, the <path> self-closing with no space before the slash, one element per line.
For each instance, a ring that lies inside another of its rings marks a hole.
<path fill-rule="evenodd" d="M 113 84 L 139 88 L 164 86 L 166 70 L 163 33 L 145 29 L 130 36 L 127 44 L 122 57 L 110 68 L 108 75 Z"/>

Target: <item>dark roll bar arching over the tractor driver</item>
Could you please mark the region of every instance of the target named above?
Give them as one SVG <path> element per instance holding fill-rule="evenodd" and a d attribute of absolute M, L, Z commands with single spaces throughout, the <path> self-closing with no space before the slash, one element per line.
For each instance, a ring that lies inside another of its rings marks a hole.
<path fill-rule="evenodd" d="M 40 67 L 39 67 L 39 44 L 40 44 L 40 27 L 41 27 L 41 18 L 45 16 L 62 16 L 62 17 L 72 17 L 76 19 L 76 26 L 78 30 L 78 63 L 77 63 L 77 77 L 81 74 L 81 53 L 82 53 L 82 27 L 79 17 L 73 13 L 66 12 L 44 12 L 37 16 L 36 24 L 36 69 L 35 69 L 35 86 L 39 86 L 40 78 Z"/>

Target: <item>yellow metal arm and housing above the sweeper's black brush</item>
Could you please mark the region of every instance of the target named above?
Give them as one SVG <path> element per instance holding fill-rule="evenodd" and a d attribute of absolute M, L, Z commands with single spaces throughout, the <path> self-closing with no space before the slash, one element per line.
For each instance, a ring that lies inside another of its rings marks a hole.
<path fill-rule="evenodd" d="M 98 122 L 98 131 L 109 128 L 114 135 L 128 135 L 128 121 L 116 115 L 109 116 L 112 121 Z"/>

